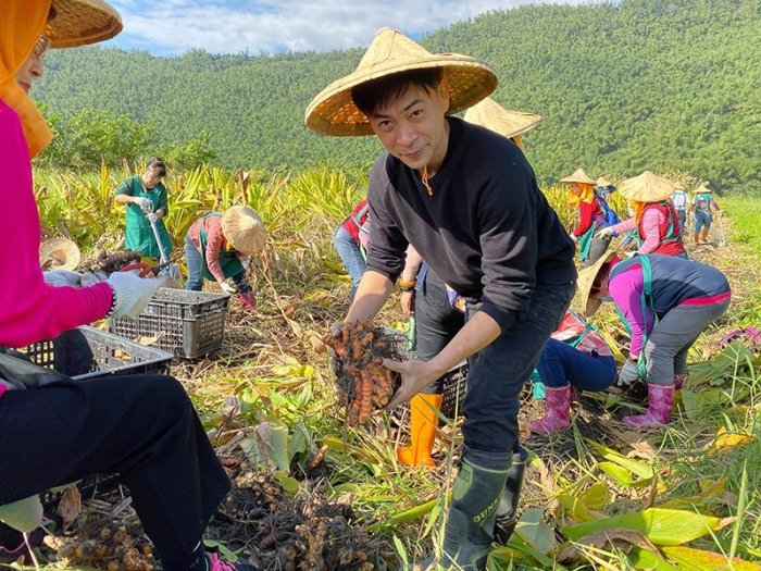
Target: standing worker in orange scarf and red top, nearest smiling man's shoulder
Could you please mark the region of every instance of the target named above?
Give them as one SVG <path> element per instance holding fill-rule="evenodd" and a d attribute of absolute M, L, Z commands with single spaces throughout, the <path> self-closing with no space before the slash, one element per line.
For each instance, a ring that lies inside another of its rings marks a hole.
<path fill-rule="evenodd" d="M 595 263 L 608 249 L 610 234 L 601 231 L 613 222 L 604 199 L 595 196 L 595 181 L 578 169 L 575 173 L 560 179 L 571 185 L 569 204 L 578 210 L 578 223 L 571 232 L 571 238 L 578 243 L 578 257 L 585 266 Z M 617 221 L 617 218 L 615 219 Z"/>

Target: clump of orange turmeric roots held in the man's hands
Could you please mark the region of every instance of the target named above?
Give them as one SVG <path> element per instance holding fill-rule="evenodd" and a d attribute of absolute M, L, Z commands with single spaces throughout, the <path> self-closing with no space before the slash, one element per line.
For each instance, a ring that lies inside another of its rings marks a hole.
<path fill-rule="evenodd" d="M 366 323 L 347 323 L 339 336 L 328 335 L 325 343 L 340 360 L 336 376 L 347 424 L 367 421 L 373 410 L 388 405 L 399 388 L 398 375 L 382 364 L 384 358 L 399 359 L 395 342 Z"/>

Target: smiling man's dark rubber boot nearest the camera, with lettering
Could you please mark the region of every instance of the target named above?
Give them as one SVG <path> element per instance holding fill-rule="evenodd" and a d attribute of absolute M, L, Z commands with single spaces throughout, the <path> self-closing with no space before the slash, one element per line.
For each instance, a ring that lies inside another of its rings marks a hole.
<path fill-rule="evenodd" d="M 452 488 L 444 533 L 441 567 L 465 571 L 486 568 L 495 517 L 510 470 L 510 455 L 467 450 Z"/>

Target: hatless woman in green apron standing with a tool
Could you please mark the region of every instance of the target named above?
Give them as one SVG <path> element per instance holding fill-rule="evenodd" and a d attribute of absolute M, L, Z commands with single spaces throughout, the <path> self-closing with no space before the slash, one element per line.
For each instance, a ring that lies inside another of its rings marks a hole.
<path fill-rule="evenodd" d="M 161 159 L 153 159 L 141 175 L 130 176 L 116 189 L 114 200 L 127 204 L 124 225 L 124 247 L 139 252 L 146 258 L 161 258 L 161 250 L 155 241 L 151 224 L 154 224 L 164 253 L 172 252 L 172 238 L 166 232 L 164 218 L 169 214 L 166 186 L 162 178 L 166 176 L 166 165 Z"/>

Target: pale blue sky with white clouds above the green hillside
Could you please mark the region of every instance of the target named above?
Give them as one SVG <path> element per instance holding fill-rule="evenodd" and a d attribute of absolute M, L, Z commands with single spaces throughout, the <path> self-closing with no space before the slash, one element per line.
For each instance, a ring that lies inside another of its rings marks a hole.
<path fill-rule="evenodd" d="M 528 0 L 109 0 L 124 32 L 110 45 L 154 54 L 326 51 L 367 46 L 383 26 L 419 38 Z M 534 3 L 544 0 L 535 0 Z M 576 3 L 576 0 L 571 0 Z"/>

